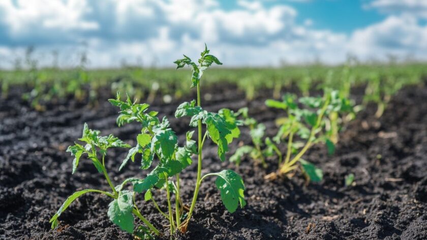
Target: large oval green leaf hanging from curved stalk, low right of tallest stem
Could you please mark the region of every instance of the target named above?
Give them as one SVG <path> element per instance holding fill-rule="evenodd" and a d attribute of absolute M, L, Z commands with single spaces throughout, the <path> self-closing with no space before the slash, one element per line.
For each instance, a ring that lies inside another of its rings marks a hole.
<path fill-rule="evenodd" d="M 225 208 L 230 213 L 234 213 L 240 203 L 240 208 L 245 207 L 246 201 L 244 196 L 245 184 L 241 177 L 233 170 L 223 170 L 216 173 L 218 176 L 215 184 L 221 192 L 221 200 Z"/>

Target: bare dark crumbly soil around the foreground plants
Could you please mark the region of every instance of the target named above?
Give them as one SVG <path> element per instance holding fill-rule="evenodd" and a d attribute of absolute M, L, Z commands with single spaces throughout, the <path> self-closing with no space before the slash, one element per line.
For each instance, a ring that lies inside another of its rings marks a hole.
<path fill-rule="evenodd" d="M 118 128 L 117 109 L 100 97 L 98 107 L 90 108 L 74 100 L 47 106 L 36 112 L 20 98 L 23 89 L 14 88 L 10 97 L 0 100 L 0 239 L 132 239 L 107 217 L 109 199 L 86 194 L 71 204 L 60 217 L 58 229 L 50 230 L 49 219 L 60 204 L 76 190 L 108 190 L 103 176 L 89 161 L 82 160 L 71 175 L 72 157 L 65 152 L 81 136 L 84 122 L 102 134 L 113 133 L 131 145 L 140 130 L 137 124 Z M 105 90 L 105 92 L 109 92 Z M 275 132 L 274 120 L 281 115 L 264 107 L 271 92 L 260 92 L 252 102 L 235 87 L 217 86 L 204 100 L 205 109 L 238 109 L 248 106 L 250 113 Z M 360 89 L 353 98 L 360 99 Z M 255 166 L 246 159 L 236 168 L 221 163 L 214 145 L 206 145 L 203 172 L 232 168 L 246 184 L 248 205 L 230 214 L 223 207 L 214 179 L 201 187 L 194 219 L 186 235 L 178 239 L 427 239 L 427 88 L 403 89 L 388 106 L 382 118 L 373 117 L 376 108 L 369 106 L 359 113 L 341 134 L 337 153 L 328 156 L 324 146 L 313 147 L 305 159 L 324 172 L 320 184 L 306 186 L 299 173 L 292 179 L 265 181 L 277 162 L 269 169 Z M 160 98 L 159 98 L 160 99 Z M 191 98 L 190 98 L 191 99 Z M 187 99 L 188 100 L 188 99 Z M 173 113 L 174 101 L 153 104 L 166 115 L 180 135 L 188 122 L 178 122 Z M 250 143 L 243 130 L 240 141 Z M 231 152 L 238 143 L 233 143 Z M 137 176 L 143 178 L 138 160 L 123 173 L 118 166 L 126 150 L 108 154 L 107 169 L 114 183 Z M 346 187 L 345 176 L 353 173 L 353 186 Z M 190 203 L 196 178 L 193 164 L 181 174 L 184 200 Z M 161 208 L 166 202 L 163 192 L 156 192 Z M 137 200 L 141 212 L 168 239 L 167 221 L 142 196 Z M 139 223 L 139 222 L 138 222 Z"/>

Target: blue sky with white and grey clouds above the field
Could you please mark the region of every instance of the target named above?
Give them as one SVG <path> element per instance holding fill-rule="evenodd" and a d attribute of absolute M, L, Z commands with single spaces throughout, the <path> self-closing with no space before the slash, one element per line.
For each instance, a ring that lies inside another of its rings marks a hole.
<path fill-rule="evenodd" d="M 427 0 L 0 0 L 0 67 L 427 60 Z M 57 57 L 55 57 L 57 56 Z"/>

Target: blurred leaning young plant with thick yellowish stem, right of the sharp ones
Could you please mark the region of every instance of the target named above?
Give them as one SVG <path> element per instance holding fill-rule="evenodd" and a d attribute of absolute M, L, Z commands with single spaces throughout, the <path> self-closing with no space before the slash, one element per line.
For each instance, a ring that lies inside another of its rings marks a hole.
<path fill-rule="evenodd" d="M 282 163 L 279 163 L 278 172 L 267 175 L 267 179 L 291 172 L 298 168 L 296 163 L 299 162 L 301 170 L 308 181 L 321 181 L 321 169 L 302 159 L 302 156 L 313 145 L 318 143 L 325 143 L 328 153 L 332 154 L 335 147 L 330 137 L 335 131 L 330 126 L 339 126 L 342 121 L 338 121 L 338 117 L 331 120 L 328 116 L 331 116 L 332 113 L 340 116 L 343 113 L 352 111 L 350 101 L 346 98 L 341 98 L 338 91 L 325 90 L 323 97 L 301 97 L 299 98 L 299 103 L 304 108 L 298 107 L 296 96 L 291 94 L 285 95 L 283 101 L 266 100 L 265 102 L 268 107 L 282 109 L 287 113 L 287 117 L 279 121 L 281 126 L 274 138 L 277 144 L 286 143 L 286 157 Z M 337 122 L 336 124 L 331 124 L 331 121 Z M 299 144 L 295 141 L 295 137 L 305 141 L 305 143 L 303 145 Z"/>

